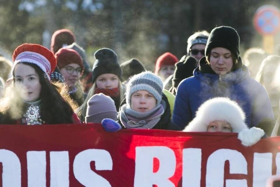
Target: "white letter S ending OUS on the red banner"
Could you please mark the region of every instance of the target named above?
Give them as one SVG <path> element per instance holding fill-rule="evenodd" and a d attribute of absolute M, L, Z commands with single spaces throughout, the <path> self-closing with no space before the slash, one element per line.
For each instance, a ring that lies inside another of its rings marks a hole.
<path fill-rule="evenodd" d="M 74 159 L 73 170 L 76 179 L 86 187 L 111 187 L 111 184 L 93 172 L 90 162 L 95 161 L 96 170 L 112 170 L 113 160 L 104 149 L 87 149 L 78 153 Z"/>

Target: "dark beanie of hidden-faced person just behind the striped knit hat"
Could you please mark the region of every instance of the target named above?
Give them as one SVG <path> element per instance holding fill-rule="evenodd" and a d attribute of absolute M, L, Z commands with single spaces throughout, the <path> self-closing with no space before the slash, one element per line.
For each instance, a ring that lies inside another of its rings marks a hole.
<path fill-rule="evenodd" d="M 130 76 L 139 74 L 146 70 L 143 64 L 135 58 L 125 61 L 120 65 L 120 67 L 122 68 L 122 79 L 124 81 Z"/>

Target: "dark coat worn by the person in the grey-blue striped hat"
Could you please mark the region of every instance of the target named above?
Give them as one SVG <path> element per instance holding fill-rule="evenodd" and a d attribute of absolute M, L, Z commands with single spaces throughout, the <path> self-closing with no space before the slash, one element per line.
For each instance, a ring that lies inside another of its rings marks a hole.
<path fill-rule="evenodd" d="M 125 99 L 120 104 L 120 108 L 122 105 L 125 105 L 126 101 Z M 167 97 L 162 93 L 162 101 L 161 104 L 164 108 L 164 113 L 160 117 L 160 121 L 157 122 L 157 124 L 153 127 L 153 129 L 164 129 L 164 130 L 180 130 L 177 125 L 171 122 L 171 113 L 170 113 L 170 105 L 167 100 Z M 118 115 L 118 122 L 121 124 L 122 128 L 125 128 L 125 126 L 120 121 L 120 115 Z"/>

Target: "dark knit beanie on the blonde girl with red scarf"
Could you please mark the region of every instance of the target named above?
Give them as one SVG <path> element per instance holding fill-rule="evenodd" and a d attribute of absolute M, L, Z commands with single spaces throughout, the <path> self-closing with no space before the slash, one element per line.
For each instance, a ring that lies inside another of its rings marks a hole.
<path fill-rule="evenodd" d="M 94 53 L 95 62 L 92 67 L 92 82 L 95 82 L 99 75 L 112 73 L 122 81 L 122 69 L 118 62 L 116 53 L 108 48 L 102 48 Z"/>

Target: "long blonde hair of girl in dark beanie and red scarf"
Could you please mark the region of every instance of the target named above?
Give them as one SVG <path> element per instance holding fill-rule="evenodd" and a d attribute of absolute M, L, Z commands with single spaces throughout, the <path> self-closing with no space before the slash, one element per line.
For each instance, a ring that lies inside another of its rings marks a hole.
<path fill-rule="evenodd" d="M 88 100 L 94 95 L 95 88 L 96 88 L 96 82 L 93 83 L 91 89 L 88 91 L 88 96 L 85 98 L 84 103 L 76 110 L 76 114 L 79 116 L 82 122 L 85 121 L 85 116 L 88 107 Z M 122 102 L 122 100 L 124 99 L 124 88 L 122 86 L 122 82 L 120 81 L 120 79 L 119 79 L 119 89 L 120 89 L 120 102 Z"/>

